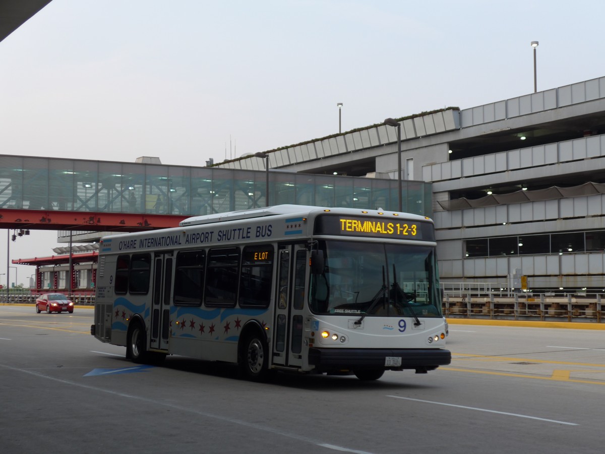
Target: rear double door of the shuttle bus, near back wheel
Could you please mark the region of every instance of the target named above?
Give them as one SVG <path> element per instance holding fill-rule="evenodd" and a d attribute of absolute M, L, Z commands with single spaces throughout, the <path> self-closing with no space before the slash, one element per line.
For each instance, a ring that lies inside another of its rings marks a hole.
<path fill-rule="evenodd" d="M 151 309 L 152 349 L 168 350 L 170 333 L 170 303 L 172 295 L 172 252 L 155 254 Z"/>

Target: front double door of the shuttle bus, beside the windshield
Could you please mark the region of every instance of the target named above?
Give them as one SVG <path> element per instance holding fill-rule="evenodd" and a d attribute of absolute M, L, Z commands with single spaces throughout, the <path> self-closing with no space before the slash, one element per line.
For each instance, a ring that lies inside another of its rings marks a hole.
<path fill-rule="evenodd" d="M 306 245 L 280 246 L 278 251 L 273 364 L 302 366 Z"/>

